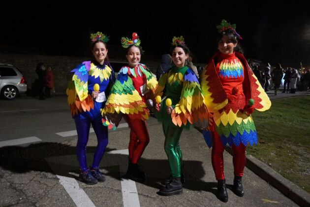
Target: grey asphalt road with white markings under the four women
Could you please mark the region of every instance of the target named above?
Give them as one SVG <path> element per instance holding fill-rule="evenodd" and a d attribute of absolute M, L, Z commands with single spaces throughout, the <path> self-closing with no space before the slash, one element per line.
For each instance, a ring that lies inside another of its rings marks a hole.
<path fill-rule="evenodd" d="M 159 196 L 156 192 L 160 182 L 169 175 L 161 125 L 154 118 L 148 121 L 151 140 L 140 161 L 147 173 L 143 184 L 124 179 L 129 130 L 123 126 L 109 132 L 100 164 L 107 180 L 86 185 L 75 179 L 79 172 L 77 136 L 66 97 L 44 101 L 31 97 L 0 99 L 0 206 L 297 206 L 247 168 L 243 178 L 245 196 L 233 194 L 232 157 L 227 152 L 224 170 L 229 201 L 217 200 L 211 150 L 195 129 L 184 131 L 180 140 L 186 173 L 184 193 Z M 96 138 L 91 133 L 89 165 L 95 146 Z"/>

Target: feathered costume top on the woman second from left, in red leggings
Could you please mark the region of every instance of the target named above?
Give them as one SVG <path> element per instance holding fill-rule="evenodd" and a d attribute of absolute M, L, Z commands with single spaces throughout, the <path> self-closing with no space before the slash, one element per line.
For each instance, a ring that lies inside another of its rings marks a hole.
<path fill-rule="evenodd" d="M 150 113 L 145 102 L 153 99 L 156 87 L 157 80 L 145 65 L 125 66 L 118 74 L 102 114 L 116 111 L 128 114 L 130 119 L 146 120 Z"/>

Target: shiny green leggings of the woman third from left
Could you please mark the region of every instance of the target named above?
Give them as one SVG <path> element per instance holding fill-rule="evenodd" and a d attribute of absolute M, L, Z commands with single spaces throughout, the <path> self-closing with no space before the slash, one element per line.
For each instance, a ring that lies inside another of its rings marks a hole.
<path fill-rule="evenodd" d="M 162 129 L 165 135 L 165 152 L 168 157 L 170 169 L 173 177 L 181 176 L 182 167 L 182 152 L 179 145 L 179 139 L 183 128 L 174 124 L 162 124 Z"/>

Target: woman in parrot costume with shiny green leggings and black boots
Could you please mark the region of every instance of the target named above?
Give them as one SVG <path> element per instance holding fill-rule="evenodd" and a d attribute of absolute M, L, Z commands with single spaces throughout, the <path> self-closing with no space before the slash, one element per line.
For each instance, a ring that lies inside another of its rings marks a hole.
<path fill-rule="evenodd" d="M 175 67 L 160 77 L 155 91 L 156 96 L 166 96 L 155 108 L 158 110 L 157 120 L 162 122 L 164 149 L 172 173 L 164 180 L 165 185 L 158 192 L 162 196 L 183 192 L 182 152 L 179 145 L 183 129 L 189 129 L 194 123 L 200 123 L 201 128 L 202 125 L 208 127 L 209 123 L 199 81 L 193 70 L 187 66 L 189 49 L 182 36 L 173 38 L 171 53 Z"/>

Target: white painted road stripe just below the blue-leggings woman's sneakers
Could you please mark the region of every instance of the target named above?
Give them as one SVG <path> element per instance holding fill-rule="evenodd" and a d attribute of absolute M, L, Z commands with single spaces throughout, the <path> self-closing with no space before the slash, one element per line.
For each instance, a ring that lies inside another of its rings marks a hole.
<path fill-rule="evenodd" d="M 79 187 L 79 183 L 74 178 L 61 175 L 57 175 L 57 177 L 77 207 L 95 207 L 91 199 Z"/>

